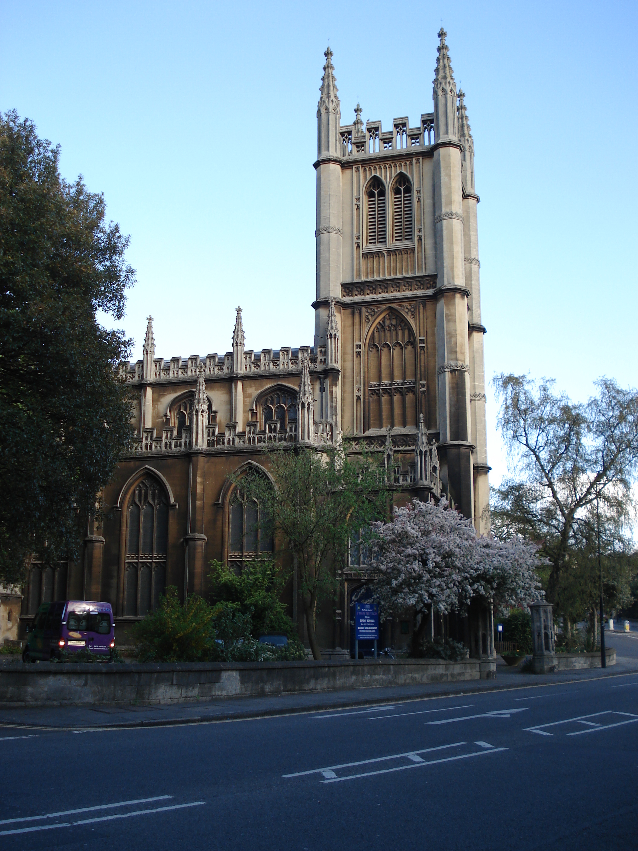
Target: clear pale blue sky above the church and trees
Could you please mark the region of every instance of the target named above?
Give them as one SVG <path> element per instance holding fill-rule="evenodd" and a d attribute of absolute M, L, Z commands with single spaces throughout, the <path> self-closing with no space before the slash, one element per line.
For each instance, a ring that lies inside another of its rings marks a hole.
<path fill-rule="evenodd" d="M 487 377 L 636 383 L 633 3 L 0 2 L 0 111 L 131 237 L 140 357 L 313 342 L 316 102 L 419 123 L 447 30 L 476 147 Z M 492 481 L 504 473 L 488 388 Z"/>

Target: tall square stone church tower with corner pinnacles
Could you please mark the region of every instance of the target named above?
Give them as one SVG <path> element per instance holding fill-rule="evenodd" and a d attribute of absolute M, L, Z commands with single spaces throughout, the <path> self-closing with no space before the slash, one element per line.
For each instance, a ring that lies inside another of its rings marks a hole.
<path fill-rule="evenodd" d="M 413 448 L 423 416 L 443 487 L 485 531 L 487 442 L 474 142 L 440 44 L 433 111 L 340 124 L 332 51 L 317 108 L 315 347 L 340 326 L 346 449 Z M 407 457 L 407 455 L 406 455 Z M 395 455 L 396 458 L 396 455 Z M 401 475 L 401 474 L 400 474 Z M 412 481 L 411 471 L 405 471 Z"/>

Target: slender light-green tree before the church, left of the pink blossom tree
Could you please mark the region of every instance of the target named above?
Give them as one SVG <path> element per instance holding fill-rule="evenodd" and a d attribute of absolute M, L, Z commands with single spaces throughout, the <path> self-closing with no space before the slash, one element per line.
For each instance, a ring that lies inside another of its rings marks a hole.
<path fill-rule="evenodd" d="M 232 477 L 248 499 L 257 500 L 276 538 L 293 556 L 283 575 L 297 570 L 299 592 L 312 655 L 317 607 L 333 599 L 336 571 L 344 564 L 351 538 L 387 513 L 387 491 L 379 467 L 367 456 L 350 459 L 333 447 L 278 447 L 268 455 L 271 481 L 257 471 Z M 288 573 L 286 573 L 288 571 Z"/>

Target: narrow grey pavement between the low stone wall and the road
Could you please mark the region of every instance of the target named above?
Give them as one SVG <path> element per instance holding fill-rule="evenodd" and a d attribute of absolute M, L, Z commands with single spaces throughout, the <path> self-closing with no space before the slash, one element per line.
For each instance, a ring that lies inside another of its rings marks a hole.
<path fill-rule="evenodd" d="M 513 688 L 553 687 L 619 677 L 638 671 L 638 633 L 607 633 L 607 645 L 616 649 L 616 665 L 605 669 L 561 671 L 553 674 L 522 673 L 498 660 L 496 680 L 461 683 L 427 683 L 418 686 L 358 688 L 310 694 L 276 694 L 251 698 L 220 698 L 179 704 L 34 706 L 0 709 L 0 727 L 39 729 L 135 728 L 209 723 L 311 711 L 347 709 L 397 700 L 424 700 L 454 695 L 493 693 Z"/>

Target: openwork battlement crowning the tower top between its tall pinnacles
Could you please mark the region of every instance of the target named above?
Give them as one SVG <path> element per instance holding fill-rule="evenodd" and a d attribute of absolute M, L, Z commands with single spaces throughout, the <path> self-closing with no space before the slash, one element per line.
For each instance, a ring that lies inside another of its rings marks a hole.
<path fill-rule="evenodd" d="M 434 142 L 434 112 L 421 116 L 419 127 L 410 127 L 407 117 L 394 118 L 392 129 L 384 133 L 380 121 L 361 121 L 339 127 L 342 157 L 367 157 L 406 151 L 416 146 L 427 147 Z"/>

